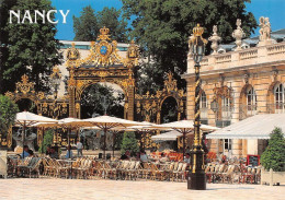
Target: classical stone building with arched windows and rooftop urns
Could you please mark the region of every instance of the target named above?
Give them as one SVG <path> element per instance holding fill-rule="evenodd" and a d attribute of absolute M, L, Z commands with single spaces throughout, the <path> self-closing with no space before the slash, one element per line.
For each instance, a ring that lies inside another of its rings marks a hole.
<path fill-rule="evenodd" d="M 285 30 L 271 32 L 267 17 L 260 19 L 260 36 L 242 39 L 241 21 L 236 43 L 218 45 L 217 26 L 209 38 L 213 52 L 201 62 L 202 122 L 217 127 L 258 114 L 285 113 Z M 194 119 L 194 61 L 189 55 L 187 118 Z M 254 131 L 254 130 L 252 130 Z M 266 140 L 210 140 L 213 152 L 230 156 L 261 154 Z"/>

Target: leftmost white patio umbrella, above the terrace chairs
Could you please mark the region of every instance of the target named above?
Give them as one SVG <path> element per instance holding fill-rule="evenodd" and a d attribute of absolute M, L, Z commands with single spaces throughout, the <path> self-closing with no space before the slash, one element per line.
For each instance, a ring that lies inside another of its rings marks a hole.
<path fill-rule="evenodd" d="M 57 120 L 48 117 L 39 116 L 36 114 L 32 114 L 30 111 L 22 111 L 16 114 L 14 125 L 23 127 L 23 134 L 22 134 L 23 154 L 22 155 L 24 155 L 25 129 L 26 127 L 32 127 L 37 122 L 57 122 Z"/>

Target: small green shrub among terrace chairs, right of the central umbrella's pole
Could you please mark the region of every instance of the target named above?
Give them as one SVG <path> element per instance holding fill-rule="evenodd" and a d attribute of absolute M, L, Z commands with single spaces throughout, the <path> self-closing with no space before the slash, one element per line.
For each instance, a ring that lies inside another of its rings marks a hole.
<path fill-rule="evenodd" d="M 139 151 L 135 132 L 124 132 L 121 153 L 124 154 L 127 150 L 130 152 L 130 155 L 136 155 L 136 153 Z"/>

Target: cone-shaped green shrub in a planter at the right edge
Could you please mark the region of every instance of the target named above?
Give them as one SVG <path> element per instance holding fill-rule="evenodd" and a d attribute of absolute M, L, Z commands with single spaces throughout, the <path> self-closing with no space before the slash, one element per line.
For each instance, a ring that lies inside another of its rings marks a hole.
<path fill-rule="evenodd" d="M 285 172 L 285 140 L 280 128 L 272 131 L 269 146 L 261 155 L 261 164 L 267 170 Z"/>

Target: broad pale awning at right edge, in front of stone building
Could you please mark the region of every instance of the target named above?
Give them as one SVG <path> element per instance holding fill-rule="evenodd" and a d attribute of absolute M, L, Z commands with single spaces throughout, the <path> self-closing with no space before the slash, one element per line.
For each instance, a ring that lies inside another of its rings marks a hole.
<path fill-rule="evenodd" d="M 249 117 L 206 136 L 207 139 L 270 139 L 275 127 L 285 131 L 285 114 Z"/>

